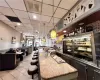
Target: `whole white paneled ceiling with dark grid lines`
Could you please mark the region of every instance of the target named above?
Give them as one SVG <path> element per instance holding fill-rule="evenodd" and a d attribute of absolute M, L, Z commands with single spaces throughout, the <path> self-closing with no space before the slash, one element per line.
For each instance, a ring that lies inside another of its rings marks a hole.
<path fill-rule="evenodd" d="M 0 20 L 19 32 L 44 36 L 53 28 L 53 16 L 57 24 L 77 1 L 0 0 Z"/>

